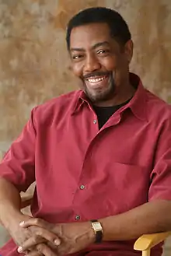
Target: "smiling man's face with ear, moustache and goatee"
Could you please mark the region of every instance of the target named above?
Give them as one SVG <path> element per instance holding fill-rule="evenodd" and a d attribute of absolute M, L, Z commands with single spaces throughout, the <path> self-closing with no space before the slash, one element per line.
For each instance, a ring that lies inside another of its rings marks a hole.
<path fill-rule="evenodd" d="M 72 70 L 82 80 L 80 87 L 92 103 L 111 100 L 119 91 L 131 61 L 132 44 L 128 44 L 121 47 L 110 36 L 106 23 L 90 23 L 72 30 Z"/>

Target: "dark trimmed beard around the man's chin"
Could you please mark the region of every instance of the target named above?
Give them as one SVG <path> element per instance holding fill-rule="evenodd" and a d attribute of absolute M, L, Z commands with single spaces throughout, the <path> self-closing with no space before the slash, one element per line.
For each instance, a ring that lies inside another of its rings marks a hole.
<path fill-rule="evenodd" d="M 96 74 L 94 74 L 96 75 Z M 99 74 L 99 75 L 103 75 L 103 74 Z M 89 98 L 89 100 L 92 103 L 99 103 L 101 101 L 106 101 L 106 100 L 110 100 L 113 98 L 113 95 L 115 94 L 115 90 L 116 90 L 116 85 L 115 85 L 115 81 L 113 78 L 113 72 L 109 72 L 107 74 L 107 79 L 108 81 L 106 82 L 106 86 L 102 86 L 99 88 L 89 88 L 89 86 L 87 86 L 85 79 L 82 79 L 83 82 L 83 90 L 86 93 L 86 96 Z"/>

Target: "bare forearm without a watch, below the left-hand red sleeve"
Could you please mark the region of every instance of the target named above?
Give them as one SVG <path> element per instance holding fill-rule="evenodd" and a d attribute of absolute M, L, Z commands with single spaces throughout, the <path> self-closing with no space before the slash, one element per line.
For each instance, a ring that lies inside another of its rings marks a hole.
<path fill-rule="evenodd" d="M 0 178 L 0 221 L 9 229 L 12 222 L 19 219 L 21 198 L 19 191 L 9 181 Z"/>

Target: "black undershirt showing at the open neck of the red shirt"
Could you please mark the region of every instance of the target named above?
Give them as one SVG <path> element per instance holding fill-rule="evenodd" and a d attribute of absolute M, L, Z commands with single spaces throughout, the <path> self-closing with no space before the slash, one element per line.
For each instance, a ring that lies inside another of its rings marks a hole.
<path fill-rule="evenodd" d="M 112 107 L 97 107 L 93 105 L 93 109 L 96 112 L 98 122 L 99 122 L 99 129 L 103 127 L 104 124 L 106 124 L 106 121 L 120 108 L 126 105 L 131 99 L 127 100 L 126 102 Z"/>

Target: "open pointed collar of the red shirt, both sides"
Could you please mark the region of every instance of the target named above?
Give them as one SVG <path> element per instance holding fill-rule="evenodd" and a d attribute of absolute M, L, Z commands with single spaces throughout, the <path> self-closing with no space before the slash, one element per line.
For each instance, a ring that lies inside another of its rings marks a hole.
<path fill-rule="evenodd" d="M 146 90 L 144 86 L 142 85 L 141 79 L 138 75 L 135 75 L 134 73 L 130 72 L 130 81 L 131 84 L 137 87 L 136 92 L 134 93 L 134 96 L 130 100 L 127 105 L 121 108 L 121 111 L 124 111 L 128 107 L 131 109 L 132 113 L 135 117 L 138 117 L 141 121 L 147 121 L 147 112 L 146 112 Z M 75 114 L 77 111 L 79 111 L 80 107 L 83 103 L 88 103 L 89 100 L 87 99 L 86 94 L 82 89 L 79 89 L 78 91 L 78 97 L 77 100 L 75 100 L 75 105 L 73 107 L 72 114 Z M 90 104 L 89 104 L 90 107 Z"/>

